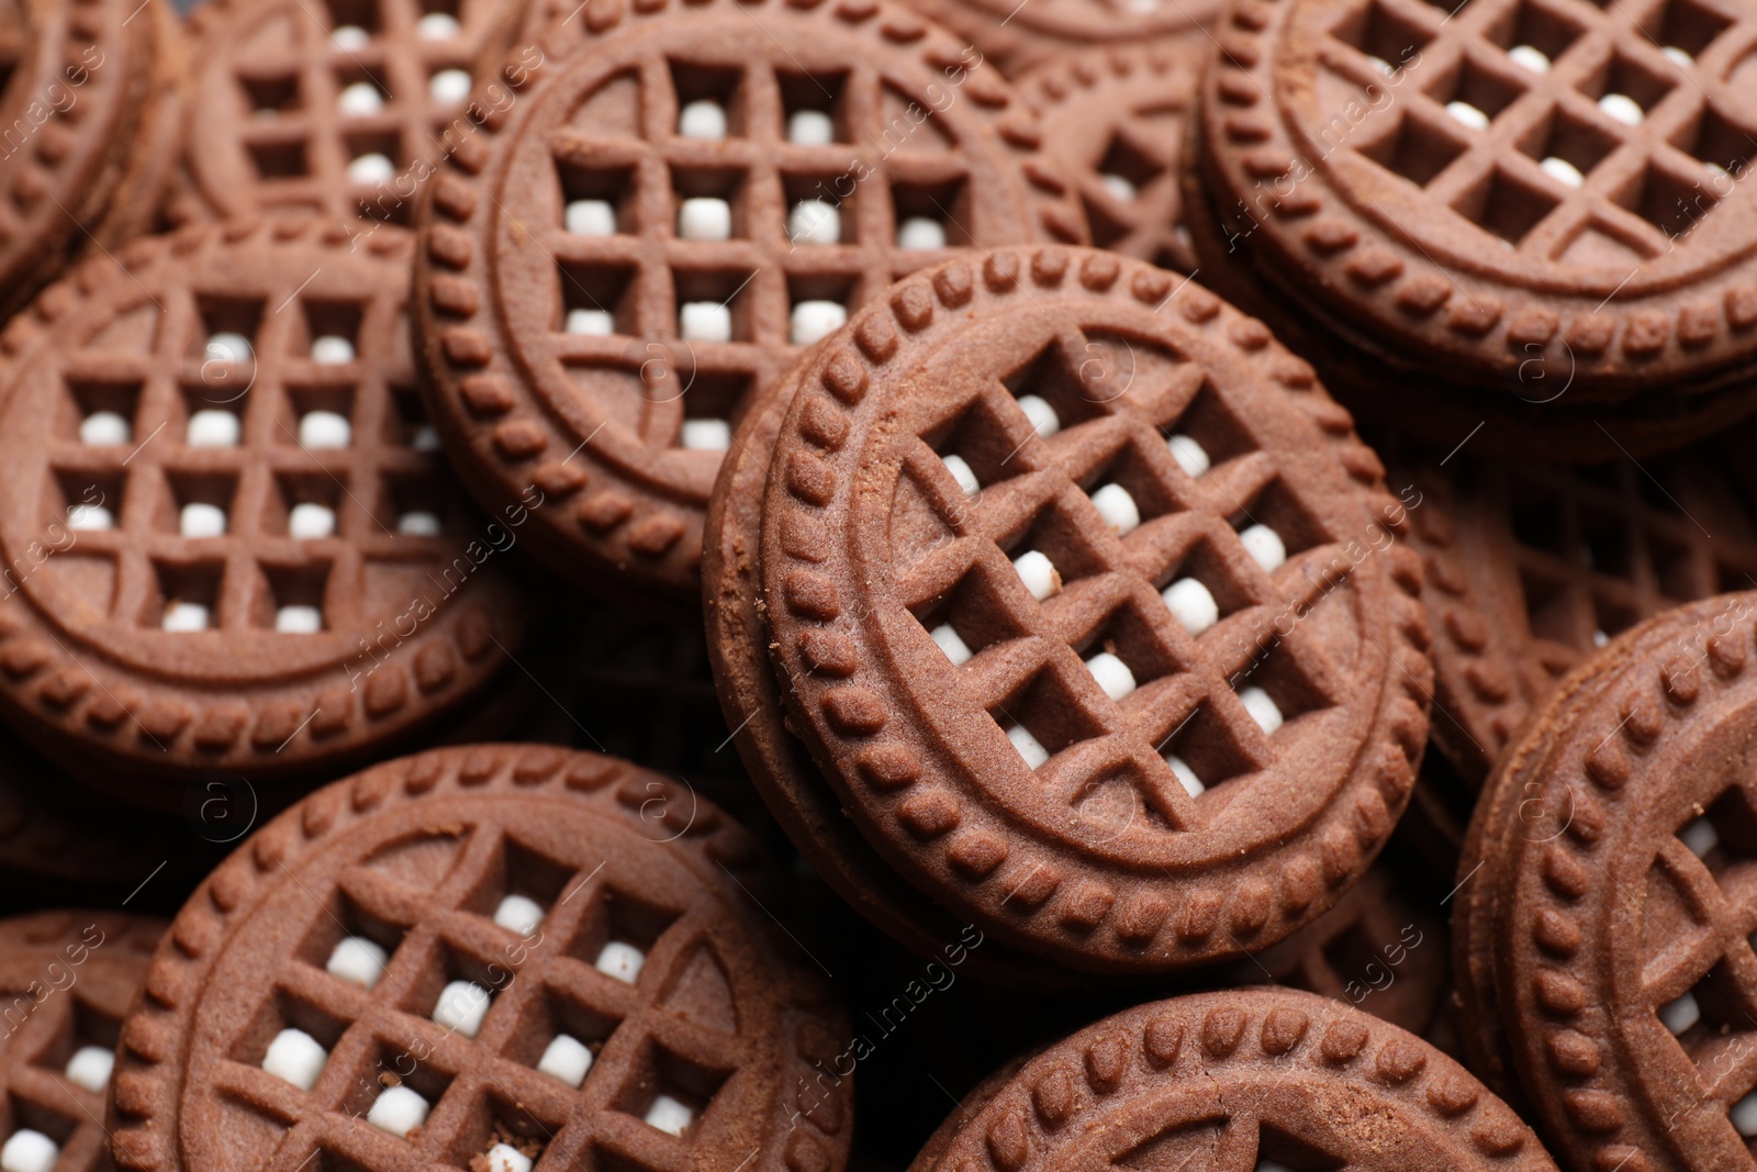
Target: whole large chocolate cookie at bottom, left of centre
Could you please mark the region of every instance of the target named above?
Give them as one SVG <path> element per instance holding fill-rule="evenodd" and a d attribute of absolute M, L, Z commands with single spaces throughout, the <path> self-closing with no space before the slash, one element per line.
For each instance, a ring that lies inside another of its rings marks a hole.
<path fill-rule="evenodd" d="M 481 745 L 262 828 L 123 1026 L 128 1172 L 847 1163 L 847 1021 L 773 868 L 627 763 Z"/>

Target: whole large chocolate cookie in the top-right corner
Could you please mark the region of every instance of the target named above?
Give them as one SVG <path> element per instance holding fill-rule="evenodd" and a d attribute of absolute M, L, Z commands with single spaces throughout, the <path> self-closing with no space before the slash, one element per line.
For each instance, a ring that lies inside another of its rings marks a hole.
<path fill-rule="evenodd" d="M 1541 364 L 1576 404 L 1717 388 L 1757 357 L 1748 30 L 1657 12 L 1235 9 L 1202 84 L 1225 230 L 1332 332 L 1421 373 L 1516 392 Z"/>

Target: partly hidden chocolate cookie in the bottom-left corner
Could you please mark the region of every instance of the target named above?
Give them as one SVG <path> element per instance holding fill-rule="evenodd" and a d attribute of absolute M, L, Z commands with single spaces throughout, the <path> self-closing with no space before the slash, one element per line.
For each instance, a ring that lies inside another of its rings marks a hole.
<path fill-rule="evenodd" d="M 121 912 L 0 919 L 7 1172 L 111 1172 L 104 1103 L 116 1037 L 165 924 Z"/>

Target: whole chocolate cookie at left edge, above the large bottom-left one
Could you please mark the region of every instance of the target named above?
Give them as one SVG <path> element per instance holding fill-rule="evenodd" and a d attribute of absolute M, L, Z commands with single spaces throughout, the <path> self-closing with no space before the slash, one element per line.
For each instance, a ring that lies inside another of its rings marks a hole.
<path fill-rule="evenodd" d="M 197 227 L 83 265 L 0 337 L 0 710 L 179 808 L 457 720 L 525 626 L 422 418 L 413 237 Z"/>

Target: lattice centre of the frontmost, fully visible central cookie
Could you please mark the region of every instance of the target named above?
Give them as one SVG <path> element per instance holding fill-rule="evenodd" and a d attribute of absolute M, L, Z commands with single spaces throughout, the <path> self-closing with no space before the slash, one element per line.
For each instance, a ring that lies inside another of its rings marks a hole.
<path fill-rule="evenodd" d="M 1154 427 L 1140 401 L 1175 406 Z M 1337 701 L 1341 666 L 1298 624 L 1272 631 L 1334 585 L 1330 538 L 1177 355 L 1070 332 L 921 436 L 903 476 L 900 597 L 1070 807 L 1198 826 L 1218 810 L 1200 794 Z M 1121 814 L 1095 799 L 1117 778 L 1139 794 Z"/>

